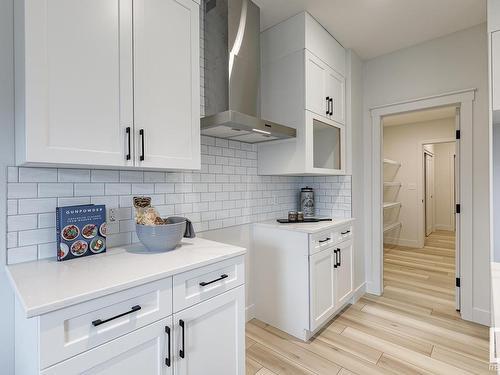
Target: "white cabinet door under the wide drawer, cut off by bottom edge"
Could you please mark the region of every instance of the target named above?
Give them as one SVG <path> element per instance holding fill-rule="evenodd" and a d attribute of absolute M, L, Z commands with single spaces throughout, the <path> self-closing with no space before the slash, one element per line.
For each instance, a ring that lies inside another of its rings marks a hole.
<path fill-rule="evenodd" d="M 171 375 L 167 329 L 172 317 L 121 336 L 113 341 L 49 367 L 42 375 Z M 171 341 L 170 341 L 171 342 Z"/>

